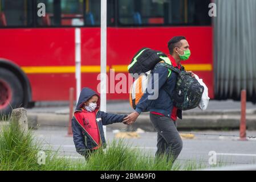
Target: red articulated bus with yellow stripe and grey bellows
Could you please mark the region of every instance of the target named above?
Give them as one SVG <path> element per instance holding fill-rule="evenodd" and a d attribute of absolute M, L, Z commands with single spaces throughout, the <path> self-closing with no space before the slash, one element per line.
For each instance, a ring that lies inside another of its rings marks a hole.
<path fill-rule="evenodd" d="M 216 6 L 209 6 L 213 2 Z M 38 4 L 46 6 L 38 16 Z M 256 102 L 255 0 L 109 0 L 107 72 L 128 75 L 142 47 L 168 53 L 173 36 L 186 36 L 184 66 L 204 80 L 214 100 Z M 215 10 L 217 16 L 210 17 Z M 82 87 L 96 90 L 100 73 L 100 0 L 0 0 L 0 109 L 66 101 L 75 88 L 75 27 L 81 28 Z M 116 80 L 115 83 L 119 82 Z M 124 85 L 123 85 L 124 86 Z M 127 88 L 129 91 L 128 82 Z M 109 93 L 107 100 L 128 100 Z"/>

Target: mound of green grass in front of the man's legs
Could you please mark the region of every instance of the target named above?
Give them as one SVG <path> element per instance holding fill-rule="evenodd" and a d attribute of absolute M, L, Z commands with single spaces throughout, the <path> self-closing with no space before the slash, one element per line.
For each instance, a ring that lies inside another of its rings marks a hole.
<path fill-rule="evenodd" d="M 167 156 L 158 160 L 142 151 L 124 144 L 123 140 L 113 141 L 105 152 L 99 150 L 92 154 L 87 166 L 92 170 L 174 170 L 178 166 L 173 165 L 172 160 L 167 161 Z"/>

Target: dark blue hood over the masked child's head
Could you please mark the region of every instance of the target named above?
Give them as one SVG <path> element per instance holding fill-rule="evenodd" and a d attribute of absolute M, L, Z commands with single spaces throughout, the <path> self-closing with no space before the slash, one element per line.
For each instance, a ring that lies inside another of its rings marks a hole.
<path fill-rule="evenodd" d="M 80 108 L 83 106 L 84 102 L 86 102 L 92 96 L 95 96 L 95 95 L 98 97 L 96 108 L 99 108 L 100 107 L 100 96 L 94 90 L 92 90 L 88 87 L 83 88 L 80 93 L 80 96 L 79 96 L 78 104 L 76 105 L 76 110 L 80 110 Z"/>

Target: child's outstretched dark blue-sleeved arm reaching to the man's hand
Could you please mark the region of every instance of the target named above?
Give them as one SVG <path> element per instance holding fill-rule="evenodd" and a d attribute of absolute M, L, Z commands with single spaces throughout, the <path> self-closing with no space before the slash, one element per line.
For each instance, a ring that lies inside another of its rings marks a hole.
<path fill-rule="evenodd" d="M 110 125 L 112 123 L 121 123 L 123 122 L 124 118 L 127 117 L 127 115 L 111 114 L 111 113 L 105 113 L 103 111 L 99 111 L 99 114 L 100 114 L 103 125 Z"/>

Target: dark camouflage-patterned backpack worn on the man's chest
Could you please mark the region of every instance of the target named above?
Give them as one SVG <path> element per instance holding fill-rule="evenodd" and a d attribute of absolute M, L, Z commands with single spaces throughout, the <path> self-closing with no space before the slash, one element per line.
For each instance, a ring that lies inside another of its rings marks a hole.
<path fill-rule="evenodd" d="M 196 78 L 193 78 L 190 73 L 173 67 L 166 63 L 159 63 L 155 69 L 163 65 L 171 71 L 178 73 L 177 83 L 174 88 L 174 93 L 170 98 L 173 100 L 174 106 L 181 110 L 189 110 L 197 107 L 204 93 L 204 86 L 200 85 Z M 165 90 L 168 94 L 168 90 Z"/>

